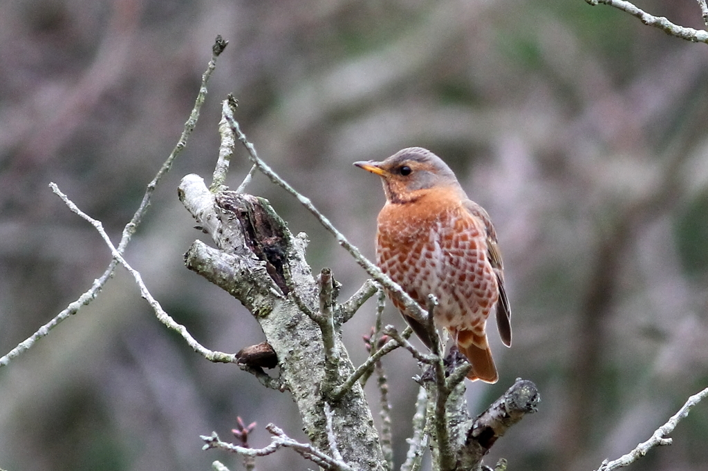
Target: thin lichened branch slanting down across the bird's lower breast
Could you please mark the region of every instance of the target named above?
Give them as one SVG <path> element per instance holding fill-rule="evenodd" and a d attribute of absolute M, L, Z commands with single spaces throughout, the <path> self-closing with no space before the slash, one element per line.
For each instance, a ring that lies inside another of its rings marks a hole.
<path fill-rule="evenodd" d="M 227 113 L 224 117 L 229 122 L 229 126 L 232 127 L 236 137 L 244 144 L 246 150 L 249 151 L 249 158 L 251 158 L 253 164 L 258 166 L 258 170 L 261 170 L 261 173 L 268 177 L 271 182 L 275 183 L 275 185 L 282 187 L 283 190 L 292 194 L 292 196 L 294 196 L 297 201 L 299 201 L 300 204 L 305 207 L 305 209 L 312 213 L 315 219 L 317 219 L 317 221 L 319 221 L 319 223 L 334 236 L 337 243 L 350 253 L 354 260 L 360 265 L 360 267 L 365 270 L 365 272 L 370 275 L 370 277 L 382 284 L 384 288 L 389 289 L 389 291 L 395 293 L 395 296 L 399 298 L 401 303 L 403 303 L 404 307 L 406 308 L 406 313 L 408 313 L 408 315 L 411 315 L 420 320 L 424 320 L 426 318 L 425 311 L 421 309 L 421 306 L 419 306 L 416 301 L 413 301 L 413 298 L 411 298 L 408 293 L 401 289 L 401 286 L 399 286 L 399 284 L 395 283 L 387 276 L 387 274 L 384 274 L 376 267 L 375 264 L 373 264 L 372 262 L 370 262 L 370 260 L 364 257 L 359 251 L 359 249 L 356 248 L 352 243 L 350 243 L 349 240 L 340 231 L 338 231 L 336 227 L 334 227 L 334 225 L 329 221 L 329 219 L 327 219 L 326 216 L 324 216 L 324 214 L 322 214 L 314 206 L 314 204 L 312 204 L 312 201 L 309 198 L 297 192 L 295 188 L 290 186 L 288 182 L 283 180 L 280 175 L 275 173 L 275 171 L 273 171 L 273 169 L 270 168 L 268 164 L 263 162 L 261 158 L 258 157 L 258 153 L 256 153 L 256 148 L 253 146 L 253 144 L 251 144 L 251 142 L 249 142 L 248 139 L 246 139 L 246 135 L 241 132 L 241 127 L 239 126 L 239 123 L 234 119 L 231 110 L 228 107 L 224 110 Z"/>

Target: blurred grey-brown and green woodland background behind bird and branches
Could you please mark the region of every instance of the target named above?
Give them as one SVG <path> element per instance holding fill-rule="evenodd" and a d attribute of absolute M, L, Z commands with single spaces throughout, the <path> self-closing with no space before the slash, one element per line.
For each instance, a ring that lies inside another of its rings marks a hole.
<path fill-rule="evenodd" d="M 695 0 L 638 1 L 704 28 Z M 708 385 L 708 50 L 582 0 L 4 0 L 0 3 L 0 355 L 89 289 L 169 155 L 217 34 L 229 40 L 198 127 L 156 190 L 127 260 L 206 347 L 263 334 L 244 308 L 183 267 L 194 222 L 176 187 L 209 179 L 220 100 L 268 161 L 373 256 L 384 202 L 353 168 L 424 146 L 496 225 L 514 345 L 491 341 L 496 385 L 469 385 L 472 414 L 514 378 L 542 403 L 499 441 L 510 470 L 593 470 L 649 438 Z M 249 168 L 244 151 L 229 185 Z M 365 274 L 299 204 L 260 175 L 248 188 L 305 231 L 314 270 L 341 298 Z M 356 362 L 370 301 L 344 329 Z M 402 325 L 388 308 L 386 322 Z M 409 354 L 384 362 L 396 463 L 416 396 Z M 375 403 L 375 390 L 367 393 Z M 634 470 L 705 470 L 708 404 Z M 375 409 L 376 412 L 376 409 Z M 210 364 L 154 317 L 125 270 L 101 296 L 0 368 L 0 468 L 208 470 L 200 450 L 240 416 L 303 439 L 287 393 Z M 291 450 L 260 470 L 312 467 Z"/>

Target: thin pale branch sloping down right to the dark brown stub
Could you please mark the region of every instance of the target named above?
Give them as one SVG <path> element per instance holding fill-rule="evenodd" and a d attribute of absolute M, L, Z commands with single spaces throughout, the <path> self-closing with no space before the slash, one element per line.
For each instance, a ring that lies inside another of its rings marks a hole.
<path fill-rule="evenodd" d="M 98 231 L 98 233 L 101 235 L 101 238 L 103 238 L 105 245 L 108 245 L 110 253 L 111 255 L 113 255 L 113 259 L 118 261 L 118 263 L 122 264 L 122 266 L 125 267 L 125 269 L 127 269 L 130 274 L 132 274 L 133 278 L 135 279 L 135 283 L 140 289 L 140 295 L 155 311 L 155 315 L 157 316 L 160 322 L 169 327 L 171 330 L 178 332 L 178 334 L 181 335 L 183 339 L 185 339 L 187 344 L 192 347 L 194 351 L 204 356 L 207 360 L 213 361 L 215 363 L 236 363 L 238 361 L 238 359 L 236 359 L 235 354 L 226 354 L 221 351 L 211 351 L 205 347 L 202 347 L 202 345 L 197 342 L 194 337 L 192 337 L 192 335 L 190 335 L 190 333 L 187 331 L 187 327 L 173 320 L 173 318 L 171 318 L 170 315 L 162 309 L 160 303 L 152 296 L 150 291 L 148 291 L 147 286 L 145 286 L 144 282 L 142 281 L 142 276 L 140 275 L 140 273 L 136 269 L 131 267 L 130 264 L 128 264 L 125 258 L 123 258 L 120 252 L 118 252 L 118 249 L 115 248 L 113 243 L 110 241 L 108 234 L 105 233 L 105 230 L 103 229 L 103 223 L 101 223 L 101 221 L 93 219 L 91 216 L 84 213 L 84 211 L 81 211 L 81 209 L 79 209 L 79 207 L 77 207 L 76 204 L 74 204 L 74 202 L 72 202 L 72 200 L 70 200 L 66 194 L 62 193 L 62 191 L 59 190 L 59 187 L 57 187 L 55 183 L 50 183 L 50 187 L 52 188 L 52 191 L 55 192 L 62 199 L 64 204 L 66 204 L 67 207 L 69 207 L 69 209 L 73 213 L 77 214 L 82 219 L 85 219 L 86 221 L 91 223 L 91 226 L 96 228 L 96 231 Z"/>

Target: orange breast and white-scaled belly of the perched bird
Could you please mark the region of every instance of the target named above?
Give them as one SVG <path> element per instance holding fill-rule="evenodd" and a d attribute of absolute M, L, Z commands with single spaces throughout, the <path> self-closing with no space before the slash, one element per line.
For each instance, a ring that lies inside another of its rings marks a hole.
<path fill-rule="evenodd" d="M 386 204 L 379 214 L 379 268 L 421 306 L 435 295 L 435 320 L 450 330 L 484 335 L 499 296 L 486 253 L 484 224 L 454 194 L 423 194 L 414 202 Z"/>

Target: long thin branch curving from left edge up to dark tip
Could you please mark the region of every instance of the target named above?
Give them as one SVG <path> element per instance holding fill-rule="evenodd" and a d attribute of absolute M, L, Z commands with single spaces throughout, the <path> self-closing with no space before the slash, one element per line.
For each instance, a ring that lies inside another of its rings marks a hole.
<path fill-rule="evenodd" d="M 212 47 L 212 59 L 207 65 L 207 70 L 204 72 L 204 74 L 202 74 L 202 83 L 200 85 L 199 93 L 197 95 L 197 99 L 195 100 L 194 107 L 192 108 L 192 112 L 189 115 L 189 119 L 184 124 L 184 129 L 179 140 L 177 141 L 176 146 L 174 147 L 174 149 L 172 149 L 172 152 L 164 161 L 152 181 L 148 183 L 147 190 L 145 190 L 145 194 L 142 197 L 142 202 L 140 202 L 140 205 L 135 211 L 135 214 L 133 214 L 132 219 L 130 219 L 130 222 L 128 222 L 125 225 L 125 228 L 123 228 L 120 243 L 118 243 L 118 248 L 116 249 L 120 254 L 125 252 L 125 248 L 127 247 L 128 243 L 130 243 L 130 239 L 132 238 L 133 234 L 135 234 L 137 227 L 142 221 L 142 218 L 147 213 L 147 209 L 150 206 L 150 200 L 152 199 L 152 194 L 154 193 L 158 183 L 160 182 L 160 180 L 162 180 L 164 175 L 169 172 L 175 158 L 177 158 L 179 153 L 181 153 L 181 151 L 187 146 L 187 141 L 189 139 L 189 136 L 194 131 L 194 128 L 199 119 L 200 110 L 202 109 L 202 105 L 204 104 L 204 100 L 207 95 L 207 82 L 209 81 L 209 78 L 212 75 L 212 71 L 214 71 L 214 69 L 216 68 L 217 57 L 223 51 L 223 47 L 220 47 L 220 45 L 226 47 L 226 44 L 225 42 L 223 42 L 222 37 L 217 36 L 215 45 L 214 47 Z M 6 355 L 2 356 L 0 358 L 0 368 L 3 366 L 7 366 L 10 361 L 17 358 L 28 349 L 32 348 L 35 342 L 37 342 L 42 337 L 47 336 L 54 327 L 56 327 L 72 315 L 76 314 L 79 309 L 84 306 L 88 306 L 91 301 L 96 299 L 98 297 L 98 294 L 101 293 L 101 289 L 103 289 L 103 286 L 113 275 L 113 272 L 115 271 L 115 267 L 117 265 L 118 262 L 115 259 L 111 260 L 101 277 L 98 277 L 97 279 L 93 280 L 91 288 L 81 294 L 81 296 L 79 296 L 76 301 L 70 303 L 69 306 L 64 308 L 64 310 L 62 310 L 57 315 L 55 315 L 52 320 L 47 322 L 45 325 L 42 325 L 42 327 L 40 327 L 37 332 L 33 333 L 33 335 L 30 335 L 30 337 L 25 339 L 23 342 L 20 342 L 15 348 L 9 351 Z"/>

